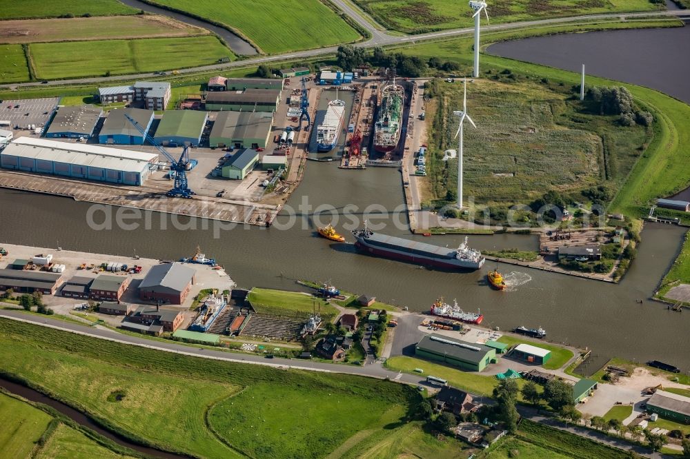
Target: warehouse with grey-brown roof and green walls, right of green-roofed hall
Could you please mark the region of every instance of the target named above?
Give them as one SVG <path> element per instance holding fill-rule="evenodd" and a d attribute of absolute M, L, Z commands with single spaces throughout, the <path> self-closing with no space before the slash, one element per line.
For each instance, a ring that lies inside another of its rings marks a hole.
<path fill-rule="evenodd" d="M 220 112 L 208 136 L 208 145 L 266 148 L 272 123 L 270 112 Z"/>

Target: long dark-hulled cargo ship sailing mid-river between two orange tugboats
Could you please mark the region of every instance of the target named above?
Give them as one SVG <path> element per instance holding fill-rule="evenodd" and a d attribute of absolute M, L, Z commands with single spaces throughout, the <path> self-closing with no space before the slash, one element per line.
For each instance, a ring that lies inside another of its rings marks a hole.
<path fill-rule="evenodd" d="M 408 239 L 378 234 L 367 229 L 354 230 L 353 236 L 357 240 L 355 247 L 366 254 L 408 261 L 418 265 L 442 269 L 480 269 L 485 258 L 477 249 L 467 245 L 467 236 L 457 249 L 439 247 Z"/>

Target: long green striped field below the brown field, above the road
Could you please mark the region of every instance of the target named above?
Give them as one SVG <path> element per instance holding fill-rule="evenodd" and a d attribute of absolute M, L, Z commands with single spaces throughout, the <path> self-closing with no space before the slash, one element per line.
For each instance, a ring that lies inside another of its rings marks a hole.
<path fill-rule="evenodd" d="M 216 37 L 33 43 L 39 79 L 174 70 L 234 55 Z"/>

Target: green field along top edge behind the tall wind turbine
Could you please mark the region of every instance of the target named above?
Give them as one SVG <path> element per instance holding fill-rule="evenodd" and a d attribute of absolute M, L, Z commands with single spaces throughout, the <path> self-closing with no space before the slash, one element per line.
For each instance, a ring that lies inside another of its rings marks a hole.
<path fill-rule="evenodd" d="M 382 26 L 417 34 L 473 26 L 473 10 L 453 0 L 355 0 Z M 491 23 L 578 16 L 580 14 L 662 10 L 648 0 L 504 0 L 489 3 Z M 482 14 L 482 25 L 486 17 Z"/>

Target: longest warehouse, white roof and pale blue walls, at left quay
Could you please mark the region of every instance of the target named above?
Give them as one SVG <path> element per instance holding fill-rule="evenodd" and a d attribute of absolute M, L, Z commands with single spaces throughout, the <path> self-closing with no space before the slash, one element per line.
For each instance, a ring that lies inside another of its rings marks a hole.
<path fill-rule="evenodd" d="M 141 185 L 157 163 L 153 153 L 19 137 L 0 152 L 0 167 L 125 185 Z"/>

